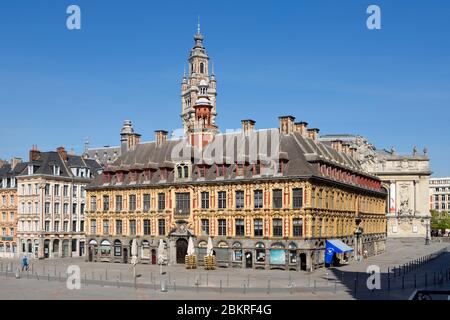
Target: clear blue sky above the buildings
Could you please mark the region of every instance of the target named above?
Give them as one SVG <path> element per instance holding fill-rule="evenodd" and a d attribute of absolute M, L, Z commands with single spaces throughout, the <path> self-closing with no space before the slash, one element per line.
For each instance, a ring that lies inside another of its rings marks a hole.
<path fill-rule="evenodd" d="M 66 9 L 82 30 L 66 29 Z M 382 10 L 382 30 L 366 9 Z M 278 126 L 291 114 L 399 153 L 429 148 L 450 167 L 450 2 L 0 2 L 0 158 L 37 144 L 117 145 L 125 119 L 144 140 L 180 127 L 180 81 L 197 16 L 218 80 L 218 124 Z"/>

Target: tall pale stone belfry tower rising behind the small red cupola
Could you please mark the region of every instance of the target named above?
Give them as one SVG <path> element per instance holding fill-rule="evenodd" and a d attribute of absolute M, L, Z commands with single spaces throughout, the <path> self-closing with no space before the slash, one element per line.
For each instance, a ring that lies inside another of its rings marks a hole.
<path fill-rule="evenodd" d="M 199 20 L 197 34 L 194 36 L 195 46 L 192 48 L 188 60 L 189 72 L 186 75 L 185 71 L 181 84 L 181 119 L 186 133 L 194 125 L 194 107 L 201 97 L 206 97 L 211 104 L 210 125 L 215 126 L 216 122 L 217 83 L 214 69 L 211 74 L 209 73 L 209 57 L 203 46 L 203 39 Z"/>

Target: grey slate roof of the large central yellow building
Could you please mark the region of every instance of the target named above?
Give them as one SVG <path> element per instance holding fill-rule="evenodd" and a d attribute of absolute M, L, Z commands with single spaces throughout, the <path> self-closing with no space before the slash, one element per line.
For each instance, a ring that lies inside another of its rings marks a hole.
<path fill-rule="evenodd" d="M 351 156 L 338 152 L 331 146 L 317 140 L 302 136 L 299 132 L 288 135 L 278 134 L 278 129 L 266 129 L 255 131 L 251 136 L 242 132 L 217 134 L 214 140 L 208 144 L 201 155 L 196 155 L 198 149 L 192 148 L 186 140 L 167 140 L 161 145 L 156 142 L 141 143 L 134 150 L 123 153 L 114 163 L 106 166 L 104 172 L 111 174 L 111 181 L 107 184 L 113 186 L 127 185 L 153 185 L 160 183 L 194 183 L 194 182 L 219 182 L 220 180 L 242 179 L 282 179 L 289 177 L 322 177 L 316 163 L 328 163 L 347 169 L 365 177 L 378 180 L 361 168 L 359 163 Z M 274 141 L 272 141 L 274 139 Z M 275 141 L 277 140 L 277 141 Z M 221 147 L 219 147 L 221 146 Z M 239 148 L 239 146 L 241 146 Z M 273 149 L 273 150 L 272 150 Z M 224 150 L 219 154 L 217 150 Z M 254 152 L 250 153 L 250 150 Z M 269 175 L 262 173 L 253 175 L 252 165 L 260 161 L 268 165 L 271 158 L 267 155 L 275 154 L 276 162 L 279 159 L 285 161 L 283 174 L 275 171 Z M 197 170 L 191 170 L 191 176 L 187 180 L 175 177 L 177 164 L 189 163 L 191 168 L 197 164 L 206 165 L 205 177 L 200 177 Z M 217 177 L 216 164 L 227 163 L 223 177 Z M 236 165 L 245 163 L 244 176 L 236 177 Z M 169 168 L 167 179 L 161 180 L 160 172 Z M 152 170 L 151 180 L 146 181 L 143 170 Z M 137 172 L 137 179 L 131 179 L 129 171 Z M 123 181 L 118 182 L 117 172 L 124 173 Z M 324 178 L 324 177 L 322 177 Z M 97 177 L 88 188 L 105 187 L 102 177 Z"/>

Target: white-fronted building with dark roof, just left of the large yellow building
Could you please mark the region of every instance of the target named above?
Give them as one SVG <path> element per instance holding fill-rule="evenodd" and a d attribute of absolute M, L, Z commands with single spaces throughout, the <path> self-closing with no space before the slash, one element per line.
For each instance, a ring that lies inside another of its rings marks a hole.
<path fill-rule="evenodd" d="M 31 153 L 17 178 L 19 253 L 39 259 L 83 256 L 84 189 L 99 166 L 63 149 Z"/>

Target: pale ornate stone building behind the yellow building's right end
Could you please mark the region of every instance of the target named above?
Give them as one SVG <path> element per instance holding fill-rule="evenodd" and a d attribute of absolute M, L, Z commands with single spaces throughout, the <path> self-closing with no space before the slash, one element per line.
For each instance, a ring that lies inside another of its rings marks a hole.
<path fill-rule="evenodd" d="M 428 151 L 416 147 L 410 155 L 399 155 L 394 148 L 377 150 L 366 138 L 352 135 L 327 135 L 325 143 L 353 149 L 358 162 L 378 176 L 389 195 L 386 207 L 388 237 L 430 236 Z"/>

